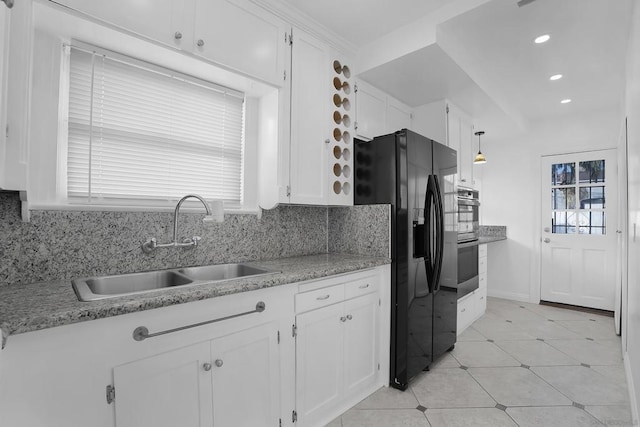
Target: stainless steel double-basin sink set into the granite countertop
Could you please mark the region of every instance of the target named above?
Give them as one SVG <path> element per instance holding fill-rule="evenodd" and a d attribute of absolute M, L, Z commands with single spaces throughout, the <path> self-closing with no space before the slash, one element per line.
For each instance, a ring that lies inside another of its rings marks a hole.
<path fill-rule="evenodd" d="M 116 276 L 88 277 L 75 279 L 71 283 L 80 301 L 97 301 L 166 288 L 218 283 L 243 277 L 256 277 L 275 273 L 279 272 L 246 264 L 216 264 Z"/>

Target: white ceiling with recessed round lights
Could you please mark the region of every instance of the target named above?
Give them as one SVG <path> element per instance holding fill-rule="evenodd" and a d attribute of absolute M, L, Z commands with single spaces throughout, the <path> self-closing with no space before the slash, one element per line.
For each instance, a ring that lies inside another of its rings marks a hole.
<path fill-rule="evenodd" d="M 379 0 L 375 7 L 369 0 L 285 1 L 361 47 L 463 0 Z M 448 98 L 487 124 L 505 114 L 523 125 L 619 108 L 633 1 L 478 2 L 440 23 L 435 44 L 360 77 L 413 107 Z M 534 44 L 544 33 L 551 40 Z M 549 81 L 557 73 L 564 78 Z M 564 98 L 573 102 L 560 104 Z"/>

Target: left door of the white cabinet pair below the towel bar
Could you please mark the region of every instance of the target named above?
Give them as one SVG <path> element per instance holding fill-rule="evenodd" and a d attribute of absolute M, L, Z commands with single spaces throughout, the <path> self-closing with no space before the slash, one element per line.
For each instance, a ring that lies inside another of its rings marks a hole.
<path fill-rule="evenodd" d="M 205 342 L 116 367 L 116 426 L 212 426 L 209 359 Z"/>

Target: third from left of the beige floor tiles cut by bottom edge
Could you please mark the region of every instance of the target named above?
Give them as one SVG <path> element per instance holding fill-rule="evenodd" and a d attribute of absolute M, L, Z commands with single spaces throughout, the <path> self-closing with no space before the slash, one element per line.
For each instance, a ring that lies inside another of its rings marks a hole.
<path fill-rule="evenodd" d="M 602 423 L 575 406 L 508 408 L 520 427 L 596 427 Z"/>

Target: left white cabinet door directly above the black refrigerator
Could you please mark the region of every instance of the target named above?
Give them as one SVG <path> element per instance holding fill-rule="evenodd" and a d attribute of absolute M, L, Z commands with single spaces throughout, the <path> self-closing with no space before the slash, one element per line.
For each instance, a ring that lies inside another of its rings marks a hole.
<path fill-rule="evenodd" d="M 384 135 L 386 123 L 386 95 L 363 82 L 357 82 L 356 91 L 356 136 L 372 139 Z"/>

